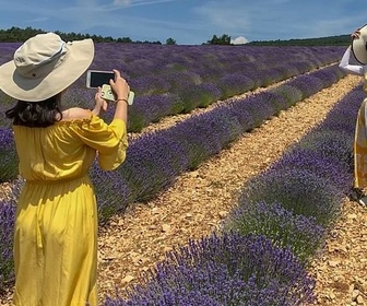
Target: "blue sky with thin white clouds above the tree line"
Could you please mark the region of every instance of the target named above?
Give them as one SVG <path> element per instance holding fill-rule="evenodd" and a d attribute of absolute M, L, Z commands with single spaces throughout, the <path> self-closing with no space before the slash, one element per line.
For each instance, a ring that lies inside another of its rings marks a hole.
<path fill-rule="evenodd" d="M 367 23 L 366 0 L 0 0 L 0 28 L 31 26 L 132 40 L 201 45 L 315 38 Z"/>

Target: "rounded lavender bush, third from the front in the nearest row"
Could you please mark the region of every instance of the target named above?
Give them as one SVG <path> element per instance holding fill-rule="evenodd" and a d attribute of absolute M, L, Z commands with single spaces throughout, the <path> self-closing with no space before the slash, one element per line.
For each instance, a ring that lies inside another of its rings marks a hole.
<path fill-rule="evenodd" d="M 273 169 L 244 187 L 239 204 L 277 202 L 292 213 L 313 216 L 318 224 L 325 226 L 336 217 L 342 197 L 342 191 L 329 180 L 307 169 Z"/>

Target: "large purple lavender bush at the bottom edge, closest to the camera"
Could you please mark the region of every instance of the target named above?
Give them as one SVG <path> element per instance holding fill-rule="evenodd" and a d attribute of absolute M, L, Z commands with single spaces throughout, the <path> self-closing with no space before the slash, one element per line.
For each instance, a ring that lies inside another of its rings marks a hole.
<path fill-rule="evenodd" d="M 128 298 L 104 306 L 301 305 L 313 301 L 315 281 L 291 250 L 263 236 L 212 235 L 168 252 Z"/>

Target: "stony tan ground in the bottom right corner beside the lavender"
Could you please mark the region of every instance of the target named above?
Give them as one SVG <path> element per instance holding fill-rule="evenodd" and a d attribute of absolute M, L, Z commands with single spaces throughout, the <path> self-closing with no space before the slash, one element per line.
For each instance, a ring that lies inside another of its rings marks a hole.
<path fill-rule="evenodd" d="M 315 305 L 367 305 L 367 209 L 345 199 L 323 254 L 313 261 Z"/>

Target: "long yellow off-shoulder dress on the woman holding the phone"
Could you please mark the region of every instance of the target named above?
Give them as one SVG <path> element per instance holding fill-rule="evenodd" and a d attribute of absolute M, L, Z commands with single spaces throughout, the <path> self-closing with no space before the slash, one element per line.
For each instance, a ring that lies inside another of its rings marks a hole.
<path fill-rule="evenodd" d="M 97 305 L 97 212 L 88 169 L 126 157 L 121 119 L 60 121 L 47 128 L 13 126 L 20 174 L 26 179 L 15 219 L 14 305 Z"/>

